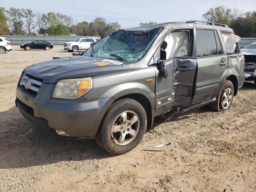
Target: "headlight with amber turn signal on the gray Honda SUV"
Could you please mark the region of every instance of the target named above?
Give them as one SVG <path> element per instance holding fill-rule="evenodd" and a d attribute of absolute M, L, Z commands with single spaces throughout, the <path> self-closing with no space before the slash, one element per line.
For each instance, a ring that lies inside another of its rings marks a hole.
<path fill-rule="evenodd" d="M 92 89 L 92 78 L 76 78 L 59 80 L 54 88 L 52 97 L 76 99 Z"/>

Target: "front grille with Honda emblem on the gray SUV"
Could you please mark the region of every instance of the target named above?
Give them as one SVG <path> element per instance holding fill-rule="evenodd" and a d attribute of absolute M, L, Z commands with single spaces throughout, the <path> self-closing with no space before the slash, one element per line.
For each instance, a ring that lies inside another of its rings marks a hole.
<path fill-rule="evenodd" d="M 28 74 L 23 74 L 20 79 L 20 86 L 25 88 L 24 90 L 29 91 L 31 94 L 36 95 L 42 85 L 42 80 L 32 77 Z"/>

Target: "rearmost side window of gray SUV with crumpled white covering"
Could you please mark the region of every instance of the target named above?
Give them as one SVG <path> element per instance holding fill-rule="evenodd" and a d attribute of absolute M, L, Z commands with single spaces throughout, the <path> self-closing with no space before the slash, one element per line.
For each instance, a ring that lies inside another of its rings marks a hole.
<path fill-rule="evenodd" d="M 228 54 L 234 54 L 234 53 L 240 52 L 240 48 L 237 44 L 237 42 L 240 40 L 238 36 L 228 32 L 221 32 L 221 35 L 226 45 Z"/>

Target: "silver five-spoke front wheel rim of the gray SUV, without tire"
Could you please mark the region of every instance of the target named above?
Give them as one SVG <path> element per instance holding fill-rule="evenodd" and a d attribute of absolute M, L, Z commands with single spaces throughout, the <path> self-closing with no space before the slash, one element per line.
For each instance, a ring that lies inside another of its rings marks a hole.
<path fill-rule="evenodd" d="M 111 127 L 111 137 L 117 145 L 127 145 L 132 142 L 140 129 L 138 115 L 130 110 L 120 113 Z"/>

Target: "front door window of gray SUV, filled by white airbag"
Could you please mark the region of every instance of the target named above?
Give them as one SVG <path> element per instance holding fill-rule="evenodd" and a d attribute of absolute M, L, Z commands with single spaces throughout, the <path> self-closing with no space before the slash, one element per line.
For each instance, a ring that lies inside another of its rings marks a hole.
<path fill-rule="evenodd" d="M 171 32 L 160 46 L 160 60 L 186 57 L 189 54 L 189 32 Z"/>

